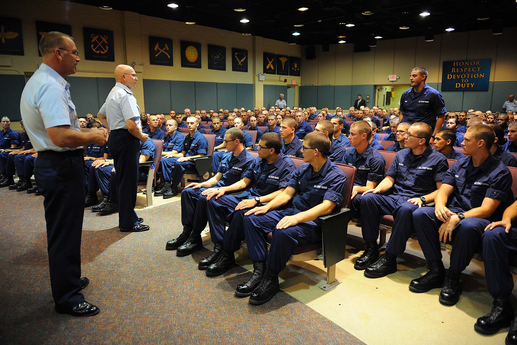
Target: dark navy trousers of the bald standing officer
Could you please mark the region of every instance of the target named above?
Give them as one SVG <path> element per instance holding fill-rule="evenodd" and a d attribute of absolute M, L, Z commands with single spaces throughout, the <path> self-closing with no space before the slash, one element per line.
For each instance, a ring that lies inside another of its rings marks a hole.
<path fill-rule="evenodd" d="M 110 149 L 118 175 L 118 227 L 132 228 L 138 224 L 134 206 L 138 187 L 140 140 L 127 129 L 115 129 L 111 131 Z"/>

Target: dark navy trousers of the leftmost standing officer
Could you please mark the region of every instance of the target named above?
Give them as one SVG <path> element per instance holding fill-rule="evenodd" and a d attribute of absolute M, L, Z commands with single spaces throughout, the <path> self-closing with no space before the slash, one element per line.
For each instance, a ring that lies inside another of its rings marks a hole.
<path fill-rule="evenodd" d="M 36 182 L 44 197 L 52 297 L 59 307 L 84 302 L 81 233 L 84 215 L 83 150 L 39 152 Z"/>

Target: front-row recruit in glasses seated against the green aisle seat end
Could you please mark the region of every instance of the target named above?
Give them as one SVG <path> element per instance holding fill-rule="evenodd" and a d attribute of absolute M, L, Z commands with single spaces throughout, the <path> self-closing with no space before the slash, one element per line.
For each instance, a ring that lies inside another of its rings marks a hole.
<path fill-rule="evenodd" d="M 323 133 L 307 134 L 303 140 L 306 163 L 275 199 L 246 213 L 244 231 L 255 271 L 235 293 L 250 296 L 252 304 L 265 303 L 278 292 L 278 274 L 296 246 L 320 240 L 321 222 L 317 218 L 330 214 L 343 201 L 346 175 L 327 159 L 330 145 Z M 291 201 L 292 207 L 279 209 Z M 271 232 L 268 253 L 265 238 Z"/>

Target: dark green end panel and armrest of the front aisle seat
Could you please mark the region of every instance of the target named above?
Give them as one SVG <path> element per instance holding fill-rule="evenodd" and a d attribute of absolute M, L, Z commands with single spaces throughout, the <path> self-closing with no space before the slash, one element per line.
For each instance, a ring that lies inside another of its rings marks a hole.
<path fill-rule="evenodd" d="M 318 217 L 322 221 L 323 262 L 325 267 L 337 264 L 345 258 L 348 222 L 352 218 L 349 208 Z"/>

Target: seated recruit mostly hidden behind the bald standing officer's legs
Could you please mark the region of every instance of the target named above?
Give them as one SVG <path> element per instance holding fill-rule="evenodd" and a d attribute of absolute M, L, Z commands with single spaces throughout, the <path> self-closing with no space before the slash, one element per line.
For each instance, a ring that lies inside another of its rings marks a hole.
<path fill-rule="evenodd" d="M 183 136 L 182 136 L 183 137 Z M 155 143 L 148 137 L 145 142 L 140 142 L 140 156 L 139 163 L 153 160 L 155 157 Z M 138 168 L 138 181 L 147 181 L 148 167 Z M 104 201 L 99 205 L 92 207 L 92 212 L 100 212 L 101 215 L 109 215 L 118 211 L 118 177 L 113 168 L 111 171 L 97 169 L 95 171 L 97 175 L 97 181 L 101 186 L 101 191 L 104 195 Z M 105 193 L 105 194 L 104 194 Z"/>

